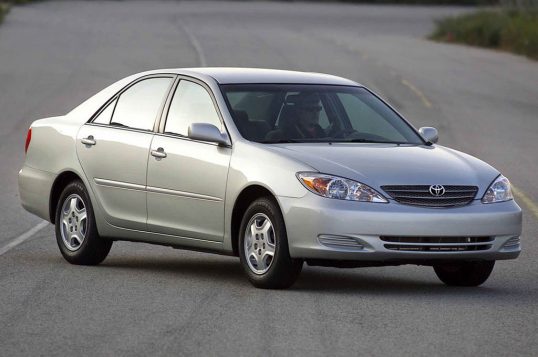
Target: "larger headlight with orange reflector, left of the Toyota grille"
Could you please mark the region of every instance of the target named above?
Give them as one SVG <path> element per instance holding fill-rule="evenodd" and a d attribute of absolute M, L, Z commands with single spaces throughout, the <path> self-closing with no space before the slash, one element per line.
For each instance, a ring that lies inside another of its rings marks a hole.
<path fill-rule="evenodd" d="M 338 200 L 388 203 L 376 190 L 357 181 L 313 172 L 299 172 L 297 173 L 297 178 L 309 191 L 323 197 Z"/>

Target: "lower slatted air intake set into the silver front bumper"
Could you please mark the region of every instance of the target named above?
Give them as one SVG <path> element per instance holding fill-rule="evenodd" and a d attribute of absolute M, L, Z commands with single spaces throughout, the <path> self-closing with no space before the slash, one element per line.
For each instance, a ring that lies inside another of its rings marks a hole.
<path fill-rule="evenodd" d="M 493 237 L 379 237 L 389 250 L 407 252 L 465 252 L 488 250 Z"/>

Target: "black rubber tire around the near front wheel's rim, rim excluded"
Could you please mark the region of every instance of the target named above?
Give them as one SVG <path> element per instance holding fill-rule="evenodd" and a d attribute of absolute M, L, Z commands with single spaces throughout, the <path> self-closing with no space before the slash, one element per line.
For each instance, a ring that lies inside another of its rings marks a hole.
<path fill-rule="evenodd" d="M 267 264 L 269 265 L 268 270 L 262 274 L 257 274 L 247 261 L 245 237 L 247 226 L 249 223 L 252 224 L 251 219 L 260 214 L 267 216 L 272 223 L 274 234 L 271 239 L 276 243 L 274 244 L 274 256 L 271 263 Z M 273 199 L 259 198 L 247 208 L 239 230 L 239 258 L 248 279 L 257 288 L 286 289 L 297 280 L 303 267 L 303 260 L 290 257 L 284 218 Z"/>

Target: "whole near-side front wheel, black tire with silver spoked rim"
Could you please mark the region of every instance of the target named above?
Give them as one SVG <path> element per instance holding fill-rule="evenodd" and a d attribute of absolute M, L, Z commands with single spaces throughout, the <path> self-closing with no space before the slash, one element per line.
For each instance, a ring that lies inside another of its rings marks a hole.
<path fill-rule="evenodd" d="M 239 232 L 239 258 L 254 286 L 285 289 L 293 285 L 303 261 L 290 257 L 284 219 L 273 200 L 254 201 L 243 216 Z"/>

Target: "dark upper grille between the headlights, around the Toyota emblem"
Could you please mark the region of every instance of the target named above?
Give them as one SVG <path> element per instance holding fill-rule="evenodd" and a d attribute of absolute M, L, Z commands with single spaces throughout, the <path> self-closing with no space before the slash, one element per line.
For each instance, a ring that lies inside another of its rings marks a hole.
<path fill-rule="evenodd" d="M 391 185 L 381 188 L 396 202 L 404 205 L 425 207 L 464 206 L 473 201 L 478 192 L 476 186 L 443 186 L 445 193 L 434 196 L 428 185 Z"/>

